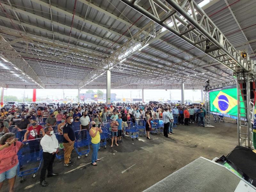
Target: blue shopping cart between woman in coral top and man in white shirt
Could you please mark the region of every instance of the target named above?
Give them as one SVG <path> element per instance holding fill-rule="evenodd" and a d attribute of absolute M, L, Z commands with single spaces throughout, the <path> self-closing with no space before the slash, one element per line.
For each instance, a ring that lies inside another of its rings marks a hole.
<path fill-rule="evenodd" d="M 39 170 L 43 160 L 43 149 L 40 145 L 42 138 L 28 140 L 24 142 L 23 148 L 18 152 L 18 177 L 20 182 L 24 181 L 25 175 L 33 174 L 36 177 L 36 172 Z"/>

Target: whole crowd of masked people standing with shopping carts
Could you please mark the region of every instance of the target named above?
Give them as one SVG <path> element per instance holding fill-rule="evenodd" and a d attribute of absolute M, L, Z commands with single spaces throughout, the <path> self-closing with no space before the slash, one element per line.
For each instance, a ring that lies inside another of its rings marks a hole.
<path fill-rule="evenodd" d="M 71 153 L 76 140 L 75 132 L 86 130 L 92 140 L 92 165 L 96 166 L 100 161 L 97 156 L 100 144 L 100 133 L 104 122 L 110 122 L 111 146 L 115 140 L 115 145 L 123 143 L 122 138 L 127 127 L 145 122 L 145 132 L 150 140 L 150 131 L 154 126 L 154 119 L 163 119 L 164 136 L 174 134 L 173 124 L 194 124 L 204 126 L 206 111 L 203 106 L 184 105 L 142 105 L 117 103 L 116 106 L 107 106 L 102 103 L 80 103 L 77 108 L 71 104 L 57 104 L 50 107 L 46 103 L 38 105 L 31 104 L 28 109 L 11 106 L 2 108 L 0 113 L 0 189 L 5 179 L 9 180 L 10 191 L 13 190 L 15 176 L 17 172 L 18 157 L 17 152 L 23 147 L 23 143 L 29 140 L 42 138 L 40 144 L 43 149 L 44 164 L 40 175 L 40 184 L 48 185 L 45 181 L 46 170 L 48 177 L 56 176 L 52 170 L 52 164 L 56 153 L 59 151 L 59 142 L 54 130 L 58 135 L 63 135 L 64 166 L 72 167 L 74 161 L 71 160 Z M 44 126 L 42 126 L 42 125 Z M 55 129 L 57 127 L 57 129 Z M 14 132 L 24 132 L 15 137 Z M 23 143 L 22 143 L 23 142 Z M 30 142 L 31 143 L 31 142 Z M 31 145 L 32 146 L 32 145 Z M 32 151 L 38 152 L 39 144 L 33 145 Z M 10 161 L 13 159 L 13 161 Z M 15 160 L 15 161 L 14 161 Z"/>

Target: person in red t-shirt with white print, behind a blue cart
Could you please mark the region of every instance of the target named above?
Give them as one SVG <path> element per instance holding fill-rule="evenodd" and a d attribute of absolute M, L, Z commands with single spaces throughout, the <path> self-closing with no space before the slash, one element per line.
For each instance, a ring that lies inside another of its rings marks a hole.
<path fill-rule="evenodd" d="M 40 151 L 40 142 L 39 140 L 35 139 L 42 138 L 45 135 L 45 133 L 43 127 L 41 125 L 38 125 L 36 120 L 31 121 L 31 124 L 32 126 L 28 127 L 27 132 L 24 135 L 23 142 L 31 140 L 28 142 L 28 145 L 30 148 L 30 153 L 34 153 L 34 151 Z M 40 131 L 42 131 L 43 136 L 40 134 Z"/>

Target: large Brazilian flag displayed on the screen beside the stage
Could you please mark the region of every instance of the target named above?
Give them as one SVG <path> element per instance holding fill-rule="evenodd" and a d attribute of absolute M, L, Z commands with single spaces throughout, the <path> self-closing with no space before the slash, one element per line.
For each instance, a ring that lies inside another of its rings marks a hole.
<path fill-rule="evenodd" d="M 242 101 L 242 97 L 240 97 L 240 101 Z M 244 106 L 244 103 L 241 102 L 241 105 Z M 237 116 L 237 89 L 230 88 L 210 92 L 210 110 L 216 113 Z M 240 110 L 243 113 L 242 110 L 244 109 Z"/>

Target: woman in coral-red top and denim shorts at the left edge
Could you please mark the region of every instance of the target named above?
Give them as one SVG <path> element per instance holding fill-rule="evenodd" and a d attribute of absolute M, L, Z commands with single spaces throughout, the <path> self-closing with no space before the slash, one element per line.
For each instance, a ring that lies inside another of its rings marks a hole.
<path fill-rule="evenodd" d="M 8 179 L 9 191 L 13 191 L 19 165 L 18 151 L 24 146 L 14 133 L 6 133 L 0 139 L 0 191 L 4 180 Z"/>

